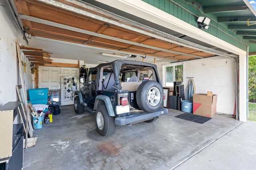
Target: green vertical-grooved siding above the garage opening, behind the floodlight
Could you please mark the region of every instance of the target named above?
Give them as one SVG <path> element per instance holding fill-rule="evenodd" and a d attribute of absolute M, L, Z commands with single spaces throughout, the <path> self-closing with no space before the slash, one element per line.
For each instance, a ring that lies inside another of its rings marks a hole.
<path fill-rule="evenodd" d="M 179 18 L 190 25 L 197 27 L 197 18 L 200 16 L 200 12 L 195 10 L 193 7 L 190 7 L 186 2 L 180 0 L 178 2 L 172 2 L 170 0 L 142 0 L 176 18 Z M 186 6 L 186 8 L 184 7 Z M 196 16 L 197 15 L 197 16 Z M 240 41 L 240 37 L 236 36 L 229 29 L 221 25 L 220 23 L 212 21 L 210 27 L 207 30 L 204 30 L 207 33 L 222 39 L 244 51 L 247 50 L 247 45 L 245 42 Z"/>

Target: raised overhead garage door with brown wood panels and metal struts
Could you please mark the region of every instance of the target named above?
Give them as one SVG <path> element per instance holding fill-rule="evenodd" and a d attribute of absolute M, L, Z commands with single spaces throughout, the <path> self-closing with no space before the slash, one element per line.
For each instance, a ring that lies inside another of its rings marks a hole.
<path fill-rule="evenodd" d="M 176 41 L 178 37 L 171 39 L 170 35 L 156 34 L 144 26 L 111 18 L 112 14 L 108 16 L 97 13 L 100 12 L 98 9 L 86 9 L 86 5 L 34 0 L 14 0 L 14 3 L 23 14 L 19 17 L 27 27 L 27 33 L 32 36 L 174 60 L 214 56 L 214 53 L 206 53 L 208 51 L 201 52 L 198 46 Z M 64 4 L 70 6 L 66 8 Z"/>

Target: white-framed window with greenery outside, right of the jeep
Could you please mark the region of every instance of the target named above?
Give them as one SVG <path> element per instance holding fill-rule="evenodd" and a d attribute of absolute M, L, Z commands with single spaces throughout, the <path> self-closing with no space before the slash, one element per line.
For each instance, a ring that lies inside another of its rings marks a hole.
<path fill-rule="evenodd" d="M 173 82 L 183 83 L 183 64 L 164 66 L 164 86 L 173 87 Z"/>

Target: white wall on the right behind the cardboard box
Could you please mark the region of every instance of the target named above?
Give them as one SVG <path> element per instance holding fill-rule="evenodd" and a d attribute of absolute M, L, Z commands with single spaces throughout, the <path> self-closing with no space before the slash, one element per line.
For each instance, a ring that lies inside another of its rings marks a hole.
<path fill-rule="evenodd" d="M 225 57 L 211 57 L 206 59 L 187 61 L 184 64 L 185 82 L 194 77 L 196 93 L 212 91 L 218 95 L 218 113 L 234 114 L 236 100 L 235 62 Z"/>

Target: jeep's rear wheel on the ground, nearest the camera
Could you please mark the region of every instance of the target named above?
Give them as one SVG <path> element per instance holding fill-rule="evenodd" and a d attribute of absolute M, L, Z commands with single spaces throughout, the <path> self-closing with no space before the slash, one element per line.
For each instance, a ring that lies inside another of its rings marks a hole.
<path fill-rule="evenodd" d="M 96 109 L 95 123 L 98 133 L 102 136 L 108 136 L 114 132 L 115 119 L 108 115 L 105 105 L 101 105 Z"/>

